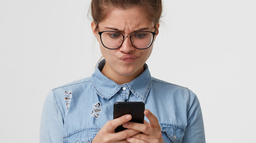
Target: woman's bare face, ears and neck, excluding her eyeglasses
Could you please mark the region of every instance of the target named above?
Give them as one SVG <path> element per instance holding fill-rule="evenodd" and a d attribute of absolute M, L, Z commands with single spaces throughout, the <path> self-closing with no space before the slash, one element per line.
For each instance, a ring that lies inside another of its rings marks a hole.
<path fill-rule="evenodd" d="M 149 58 L 153 44 L 147 49 L 136 49 L 131 44 L 130 38 L 125 37 L 121 47 L 117 49 L 107 49 L 102 45 L 98 31 L 95 31 L 95 27 L 96 24 L 92 22 L 93 33 L 99 42 L 102 56 L 106 60 L 106 64 L 103 68 L 105 71 L 107 70 L 109 73 L 123 76 L 139 75 L 144 71 L 143 64 Z M 159 24 L 157 24 L 156 27 L 158 28 Z M 117 31 L 125 36 L 130 36 L 138 31 L 154 32 L 156 30 L 156 36 L 158 34 L 158 29 L 155 29 L 154 23 L 148 20 L 145 14 L 141 13 L 136 8 L 129 10 L 112 10 L 102 22 L 98 23 L 98 30 Z"/>

